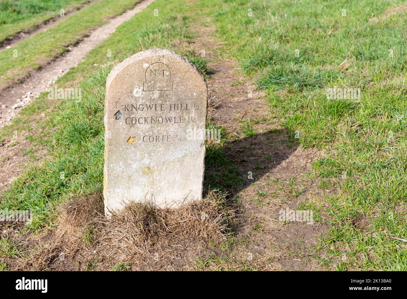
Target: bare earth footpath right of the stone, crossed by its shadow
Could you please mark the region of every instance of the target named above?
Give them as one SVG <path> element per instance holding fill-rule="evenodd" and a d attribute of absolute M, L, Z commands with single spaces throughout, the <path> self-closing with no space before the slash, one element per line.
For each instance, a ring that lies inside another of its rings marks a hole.
<path fill-rule="evenodd" d="M 241 211 L 234 228 L 235 240 L 239 241 L 226 252 L 215 250 L 209 260 L 221 256 L 226 263 L 212 263 L 208 269 L 318 269 L 315 259 L 310 258 L 313 254 L 310 245 L 317 243 L 327 225 L 283 222 L 279 213 L 287 208 L 298 210 L 300 203 L 319 195 L 316 182 L 301 177 L 319 157 L 319 151 L 304 150 L 291 141 L 293 132 L 278 125 L 276 111 L 267 105 L 264 94 L 255 91 L 256 87 L 241 74 L 239 63 L 219 57 L 221 43 L 213 38 L 213 28 L 201 28 L 198 36 L 197 51 L 204 49 L 212 61 L 213 73 L 208 80 L 209 115 L 215 124 L 230 133 L 230 148 L 224 154 L 238 166 L 243 181 L 242 186 L 228 190 L 230 200 L 239 202 Z M 254 135 L 242 137 L 242 126 L 250 122 Z M 213 171 L 217 170 L 206 169 L 207 173 Z M 249 179 L 249 173 L 253 179 Z M 204 255 L 202 259 L 205 260 Z"/>

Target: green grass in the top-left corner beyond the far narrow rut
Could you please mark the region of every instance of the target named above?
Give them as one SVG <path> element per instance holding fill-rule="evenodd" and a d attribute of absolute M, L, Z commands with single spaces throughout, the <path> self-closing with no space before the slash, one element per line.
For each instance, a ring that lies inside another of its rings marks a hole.
<path fill-rule="evenodd" d="M 66 13 L 88 0 L 2 0 L 0 1 L 0 41 L 31 29 L 42 22 L 57 17 L 61 9 Z"/>

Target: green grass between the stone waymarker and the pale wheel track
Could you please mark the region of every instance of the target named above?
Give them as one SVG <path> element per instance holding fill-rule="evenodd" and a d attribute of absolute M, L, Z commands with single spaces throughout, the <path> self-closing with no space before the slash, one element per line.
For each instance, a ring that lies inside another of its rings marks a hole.
<path fill-rule="evenodd" d="M 145 48 L 168 48 L 181 55 L 193 55 L 188 43 L 193 34 L 184 11 L 177 1 L 157 0 L 128 22 L 119 26 L 113 35 L 96 47 L 87 59 L 61 77 L 58 87 L 80 87 L 82 100 L 49 100 L 43 93 L 20 112 L 11 126 L 1 129 L 1 136 L 12 137 L 14 131 L 26 132 L 33 146 L 45 147 L 49 157 L 40 166 L 31 166 L 4 192 L 2 208 L 33 211 L 30 229 L 38 231 L 54 226 L 53 212 L 61 202 L 79 194 L 101 192 L 103 185 L 103 106 L 106 77 L 113 65 Z M 106 4 L 109 8 L 109 4 Z M 188 6 L 185 6 L 188 7 Z M 160 16 L 153 11 L 160 9 Z M 193 12 L 190 7 L 190 13 Z M 131 32 L 129 34 L 129 32 Z M 112 56 L 107 57 L 107 50 Z M 0 53 L 1 54 L 1 53 Z M 197 58 L 205 71 L 206 59 Z M 46 113 L 45 118 L 39 118 Z M 72 118 L 72 115 L 75 115 Z M 230 166 L 234 170 L 233 166 Z M 63 175 L 61 175 L 63 173 Z M 232 179 L 232 173 L 228 174 Z M 84 236 L 85 240 L 90 240 Z"/>

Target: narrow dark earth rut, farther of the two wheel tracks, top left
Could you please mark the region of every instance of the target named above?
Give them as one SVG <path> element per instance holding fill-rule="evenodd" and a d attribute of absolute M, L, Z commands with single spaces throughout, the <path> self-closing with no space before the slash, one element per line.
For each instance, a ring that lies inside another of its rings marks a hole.
<path fill-rule="evenodd" d="M 47 31 L 49 28 L 52 28 L 56 24 L 58 24 L 58 22 L 65 20 L 66 17 L 70 17 L 71 15 L 76 14 L 78 11 L 80 11 L 81 9 L 83 9 L 85 7 L 88 7 L 90 4 L 92 4 L 92 2 L 95 2 L 95 1 L 98 1 L 98 0 L 90 0 L 89 2 L 80 5 L 79 7 L 75 8 L 75 9 L 70 9 L 68 11 L 65 11 L 63 16 L 53 17 L 49 20 L 46 20 L 42 24 L 39 24 L 38 26 L 36 26 L 34 28 L 23 30 L 18 33 L 15 33 L 11 37 L 7 37 L 6 39 L 4 39 L 3 41 L 0 42 L 0 52 L 2 52 L 5 49 L 8 49 L 8 48 L 13 48 L 13 47 L 17 46 L 18 44 L 20 44 L 22 41 L 25 41 L 26 39 L 29 39 L 30 37 L 32 37 L 38 33 Z"/>

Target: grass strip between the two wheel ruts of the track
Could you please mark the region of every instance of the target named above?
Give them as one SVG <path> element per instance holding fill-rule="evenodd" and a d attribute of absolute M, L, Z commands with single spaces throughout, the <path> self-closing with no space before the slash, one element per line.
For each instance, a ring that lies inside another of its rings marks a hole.
<path fill-rule="evenodd" d="M 17 82 L 27 76 L 30 70 L 39 68 L 55 56 L 66 52 L 68 46 L 88 35 L 90 29 L 105 24 L 109 17 L 120 15 L 133 8 L 137 2 L 137 0 L 94 2 L 75 15 L 67 16 L 46 32 L 0 52 L 0 87 Z"/>

